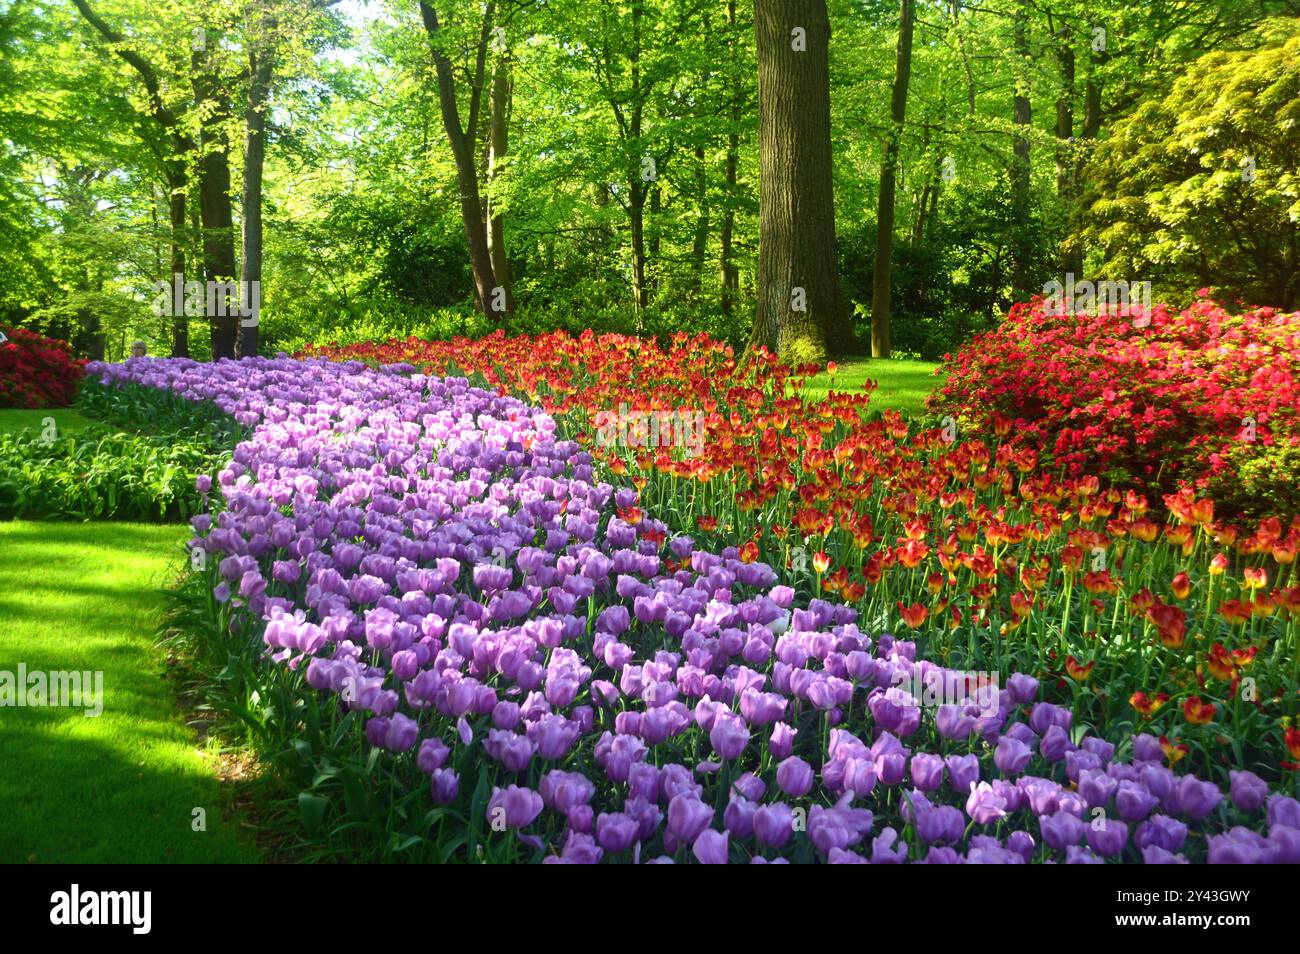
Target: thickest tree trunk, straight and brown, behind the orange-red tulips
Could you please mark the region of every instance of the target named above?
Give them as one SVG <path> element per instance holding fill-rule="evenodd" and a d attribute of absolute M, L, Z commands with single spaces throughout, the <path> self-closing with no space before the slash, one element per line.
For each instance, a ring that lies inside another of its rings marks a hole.
<path fill-rule="evenodd" d="M 759 103 L 758 309 L 749 351 L 801 364 L 844 347 L 831 185 L 826 0 L 755 0 Z"/>

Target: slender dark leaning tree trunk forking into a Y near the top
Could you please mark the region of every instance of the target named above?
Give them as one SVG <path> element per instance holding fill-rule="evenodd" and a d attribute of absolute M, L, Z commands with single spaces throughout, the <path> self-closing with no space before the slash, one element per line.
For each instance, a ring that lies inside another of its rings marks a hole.
<path fill-rule="evenodd" d="M 480 32 L 473 88 L 469 94 L 468 122 L 460 125 L 460 109 L 456 105 L 456 81 L 451 61 L 441 48 L 438 13 L 432 3 L 420 0 L 420 16 L 425 32 L 429 35 L 433 52 L 433 65 L 438 74 L 438 107 L 442 112 L 442 125 L 447 131 L 447 143 L 456 162 L 456 183 L 460 188 L 460 221 L 465 230 L 465 246 L 469 251 L 469 268 L 474 276 L 474 299 L 485 315 L 503 311 L 504 290 L 500 296 L 494 294 L 497 278 L 491 269 L 491 255 L 488 251 L 488 224 L 484 217 L 482 200 L 478 195 L 478 170 L 474 168 L 474 130 L 478 127 L 478 103 L 482 95 L 482 78 L 488 57 L 488 42 L 491 36 L 491 23 L 497 4 L 489 0 L 484 5 L 482 30 Z M 495 308 L 494 305 L 502 305 Z"/>

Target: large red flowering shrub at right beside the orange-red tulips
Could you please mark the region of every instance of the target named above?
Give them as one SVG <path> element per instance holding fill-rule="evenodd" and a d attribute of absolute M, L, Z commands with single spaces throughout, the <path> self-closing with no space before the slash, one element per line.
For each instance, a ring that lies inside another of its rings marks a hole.
<path fill-rule="evenodd" d="M 1300 312 L 1230 315 L 1204 298 L 1180 313 L 1018 304 L 949 357 L 931 407 L 1031 445 L 1069 476 L 1294 512 L 1273 485 L 1300 476 L 1279 473 L 1300 461 Z"/>

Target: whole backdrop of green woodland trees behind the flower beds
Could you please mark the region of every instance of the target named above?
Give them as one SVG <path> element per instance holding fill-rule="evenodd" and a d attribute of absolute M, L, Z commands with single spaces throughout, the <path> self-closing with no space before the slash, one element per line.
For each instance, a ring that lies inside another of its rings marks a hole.
<path fill-rule="evenodd" d="M 1066 272 L 1294 304 L 1288 13 L 0 0 L 0 320 L 207 357 L 499 324 L 864 352 L 875 318 L 939 356 Z M 260 279 L 261 341 L 156 313 L 177 273 Z"/>

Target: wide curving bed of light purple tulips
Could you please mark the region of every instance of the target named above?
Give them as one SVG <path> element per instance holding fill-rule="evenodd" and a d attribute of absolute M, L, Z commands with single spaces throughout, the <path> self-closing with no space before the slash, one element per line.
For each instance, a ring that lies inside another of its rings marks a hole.
<path fill-rule="evenodd" d="M 324 811 L 380 799 L 415 855 L 1300 860 L 1300 803 L 1251 772 L 1227 792 L 1175 772 L 1152 736 L 1080 733 L 1030 676 L 991 693 L 734 547 L 668 537 L 514 398 L 324 360 L 88 370 L 252 429 L 192 521 L 213 620 L 298 681 L 274 717 L 318 773 L 387 764 Z"/>

